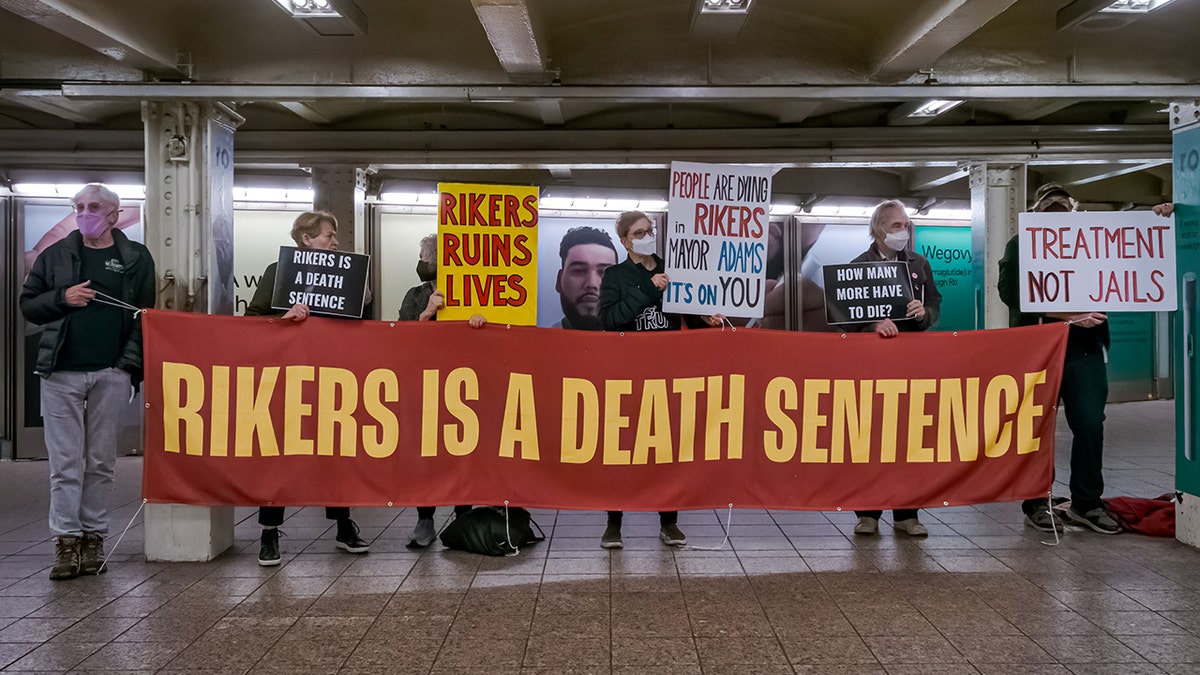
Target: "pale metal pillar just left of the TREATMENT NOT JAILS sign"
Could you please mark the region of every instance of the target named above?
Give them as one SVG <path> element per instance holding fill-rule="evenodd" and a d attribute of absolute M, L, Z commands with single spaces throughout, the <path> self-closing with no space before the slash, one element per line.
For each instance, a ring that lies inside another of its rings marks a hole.
<path fill-rule="evenodd" d="M 1025 210 L 1025 165 L 972 165 L 971 259 L 976 287 L 976 328 L 1007 328 L 1008 307 L 1000 301 L 996 281 L 1004 244 L 1016 234 L 1018 215 Z"/>

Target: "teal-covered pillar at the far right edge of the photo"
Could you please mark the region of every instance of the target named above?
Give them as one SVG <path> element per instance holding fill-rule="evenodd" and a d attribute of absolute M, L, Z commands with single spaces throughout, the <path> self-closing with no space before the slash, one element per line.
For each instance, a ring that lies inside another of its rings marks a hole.
<path fill-rule="evenodd" d="M 1175 537 L 1200 546 L 1200 100 L 1171 103 L 1175 255 Z"/>

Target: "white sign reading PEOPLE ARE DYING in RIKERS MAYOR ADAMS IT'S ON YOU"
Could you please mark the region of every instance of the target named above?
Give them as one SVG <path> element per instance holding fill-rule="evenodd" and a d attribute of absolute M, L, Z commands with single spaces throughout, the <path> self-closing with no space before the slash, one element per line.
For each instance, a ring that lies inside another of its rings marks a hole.
<path fill-rule="evenodd" d="M 772 173 L 671 162 L 664 311 L 762 317 Z"/>

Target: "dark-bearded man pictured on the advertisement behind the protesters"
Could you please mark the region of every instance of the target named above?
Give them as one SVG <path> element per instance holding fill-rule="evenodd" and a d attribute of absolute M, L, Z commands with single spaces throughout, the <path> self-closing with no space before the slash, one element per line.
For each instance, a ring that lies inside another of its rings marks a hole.
<path fill-rule="evenodd" d="M 562 268 L 554 291 L 563 305 L 563 321 L 556 328 L 600 330 L 600 280 L 604 270 L 617 264 L 617 249 L 606 232 L 595 227 L 572 227 L 558 245 Z"/>

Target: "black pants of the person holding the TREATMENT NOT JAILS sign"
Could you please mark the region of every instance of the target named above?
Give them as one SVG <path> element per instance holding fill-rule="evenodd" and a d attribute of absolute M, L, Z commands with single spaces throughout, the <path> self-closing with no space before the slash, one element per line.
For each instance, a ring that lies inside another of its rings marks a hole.
<path fill-rule="evenodd" d="M 1086 513 L 1103 507 L 1104 494 L 1104 404 L 1109 399 L 1109 370 L 1104 352 L 1096 350 L 1067 360 L 1058 388 L 1062 410 L 1070 428 L 1070 506 Z M 1026 513 L 1045 504 L 1045 497 L 1025 500 Z"/>

